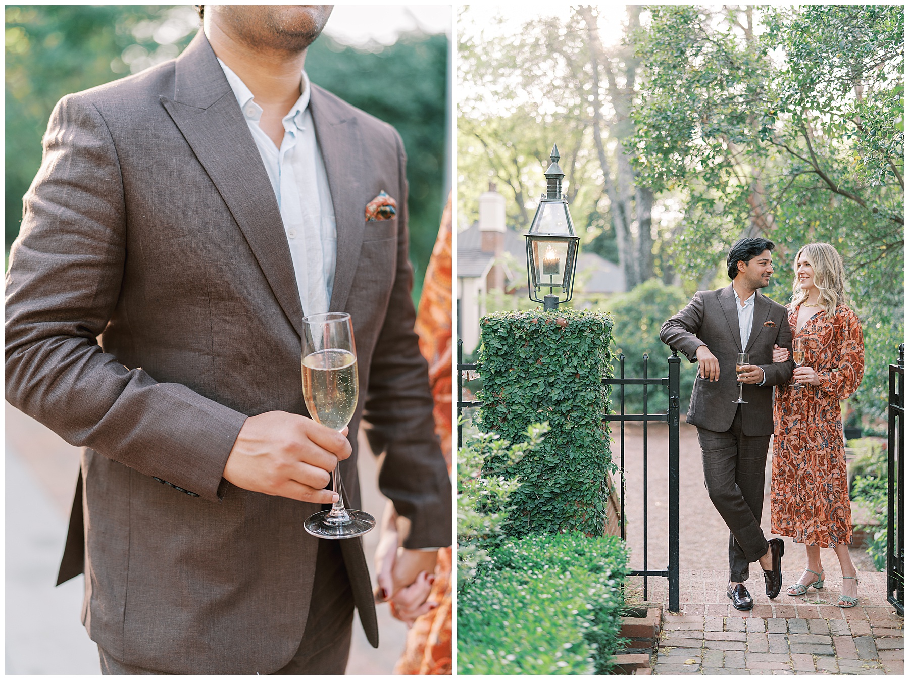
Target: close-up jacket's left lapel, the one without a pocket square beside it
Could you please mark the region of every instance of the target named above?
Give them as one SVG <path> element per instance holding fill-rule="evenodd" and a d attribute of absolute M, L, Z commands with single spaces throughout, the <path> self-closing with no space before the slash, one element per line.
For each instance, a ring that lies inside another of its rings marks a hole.
<path fill-rule="evenodd" d="M 275 192 L 233 90 L 202 31 L 176 60 L 167 113 L 234 215 L 297 334 L 303 307 Z"/>

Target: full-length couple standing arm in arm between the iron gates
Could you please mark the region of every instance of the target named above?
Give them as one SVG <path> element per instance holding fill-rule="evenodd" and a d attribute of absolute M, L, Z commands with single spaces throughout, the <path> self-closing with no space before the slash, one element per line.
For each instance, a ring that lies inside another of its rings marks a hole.
<path fill-rule="evenodd" d="M 786 593 L 824 587 L 820 549 L 830 547 L 844 578 L 837 605 L 852 607 L 858 579 L 848 547 L 852 517 L 839 402 L 862 380 L 862 327 L 845 305 L 843 260 L 832 245 L 804 245 L 795 255 L 788 306 L 758 292 L 774 273 L 773 250 L 766 238 L 737 241 L 726 258 L 732 284 L 695 294 L 665 322 L 660 339 L 700 364 L 687 421 L 697 426 L 708 494 L 729 526 L 726 594 L 734 607 L 754 606 L 745 586 L 752 562 L 764 570 L 768 597 L 783 585 L 784 542 L 767 540 L 761 529 L 771 435 L 771 530 L 804 543 L 807 556 L 804 574 Z M 794 342 L 804 348 L 797 367 Z M 732 369 L 743 353 L 749 360 L 736 377 Z M 740 390 L 744 403 L 736 402 Z"/>

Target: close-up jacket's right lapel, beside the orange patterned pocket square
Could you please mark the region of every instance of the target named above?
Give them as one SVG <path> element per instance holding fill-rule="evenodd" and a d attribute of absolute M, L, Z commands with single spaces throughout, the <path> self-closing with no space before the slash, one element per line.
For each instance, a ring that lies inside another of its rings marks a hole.
<path fill-rule="evenodd" d="M 366 195 L 367 187 L 361 180 L 365 168 L 363 140 L 355 117 L 333 95 L 317 85 L 310 86 L 309 108 L 315 138 L 325 161 L 337 230 L 335 284 L 329 309 L 343 312 L 363 245 L 366 203 L 372 196 Z"/>

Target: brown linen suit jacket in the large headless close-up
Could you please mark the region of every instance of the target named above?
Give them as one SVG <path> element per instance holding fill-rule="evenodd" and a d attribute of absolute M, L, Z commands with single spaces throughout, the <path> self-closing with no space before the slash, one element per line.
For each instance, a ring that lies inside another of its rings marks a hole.
<path fill-rule="evenodd" d="M 353 317 L 359 357 L 346 497 L 359 506 L 362 416 L 405 546 L 450 545 L 404 148 L 315 85 L 310 107 L 337 225 L 330 308 Z M 174 61 L 65 96 L 44 144 L 6 280 L 6 398 L 86 447 L 60 578 L 85 568 L 85 626 L 126 664 L 275 671 L 303 637 L 317 545 L 303 523 L 321 508 L 222 478 L 247 416 L 306 415 L 294 266 L 245 118 L 200 31 Z M 365 222 L 383 190 L 397 217 Z M 362 544 L 340 543 L 376 645 Z"/>

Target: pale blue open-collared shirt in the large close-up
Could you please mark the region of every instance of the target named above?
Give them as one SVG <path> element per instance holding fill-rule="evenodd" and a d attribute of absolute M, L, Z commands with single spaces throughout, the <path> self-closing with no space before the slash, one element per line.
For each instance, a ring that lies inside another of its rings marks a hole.
<path fill-rule="evenodd" d="M 277 148 L 259 127 L 262 107 L 255 103 L 253 93 L 223 61 L 218 59 L 218 63 L 234 91 L 275 191 L 303 313 L 324 314 L 335 283 L 337 230 L 328 174 L 309 111 L 309 78 L 302 72 L 302 94 L 281 121 L 285 135 Z"/>

